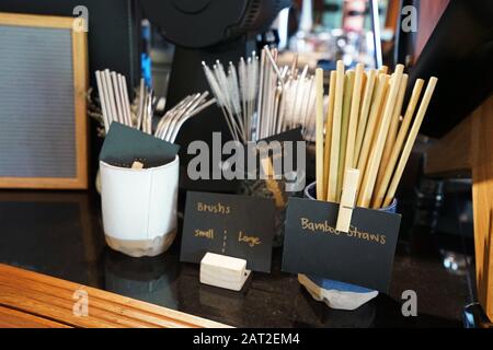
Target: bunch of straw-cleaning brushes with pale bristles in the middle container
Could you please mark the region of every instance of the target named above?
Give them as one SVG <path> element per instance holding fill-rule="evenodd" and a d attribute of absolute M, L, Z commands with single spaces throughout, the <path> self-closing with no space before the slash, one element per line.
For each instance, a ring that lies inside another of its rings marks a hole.
<path fill-rule="evenodd" d="M 257 141 L 302 127 L 307 139 L 316 129 L 316 83 L 308 67 L 299 72 L 278 67 L 277 51 L 264 47 L 260 57 L 241 58 L 238 67 L 203 62 L 204 72 L 233 139 Z"/>

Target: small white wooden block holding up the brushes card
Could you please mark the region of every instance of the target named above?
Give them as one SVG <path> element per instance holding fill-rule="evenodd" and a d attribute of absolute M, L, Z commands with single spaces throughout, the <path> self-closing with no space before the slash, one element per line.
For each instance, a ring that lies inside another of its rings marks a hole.
<path fill-rule="evenodd" d="M 200 261 L 200 283 L 240 291 L 250 276 L 246 260 L 207 253 Z"/>

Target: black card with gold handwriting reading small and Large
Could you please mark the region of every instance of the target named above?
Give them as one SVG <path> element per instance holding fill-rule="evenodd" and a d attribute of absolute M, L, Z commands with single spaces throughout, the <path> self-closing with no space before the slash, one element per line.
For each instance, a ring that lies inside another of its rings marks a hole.
<path fill-rule="evenodd" d="M 246 268 L 271 271 L 274 200 L 188 191 L 181 261 L 200 262 L 206 253 L 246 260 Z"/>

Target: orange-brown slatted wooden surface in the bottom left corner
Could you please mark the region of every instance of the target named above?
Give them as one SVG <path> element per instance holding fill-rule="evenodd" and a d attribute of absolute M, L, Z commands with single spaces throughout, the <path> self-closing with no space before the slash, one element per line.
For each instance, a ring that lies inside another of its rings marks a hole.
<path fill-rule="evenodd" d="M 82 298 L 81 298 L 82 296 Z M 87 314 L 80 302 L 87 301 Z M 76 312 L 74 312 L 76 311 Z M 223 324 L 0 265 L 0 327 L 222 328 Z"/>

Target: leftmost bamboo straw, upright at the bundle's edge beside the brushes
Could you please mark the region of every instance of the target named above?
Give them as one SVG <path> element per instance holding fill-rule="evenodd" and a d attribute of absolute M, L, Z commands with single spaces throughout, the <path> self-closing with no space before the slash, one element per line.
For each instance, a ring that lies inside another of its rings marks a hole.
<path fill-rule="evenodd" d="M 317 199 L 323 200 L 323 69 L 316 70 L 317 89 Z"/>

